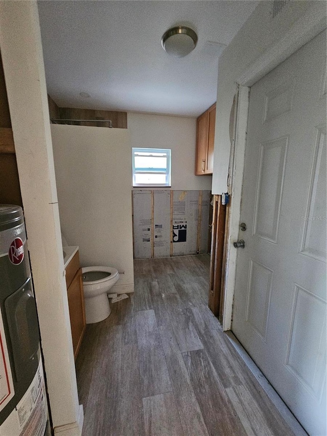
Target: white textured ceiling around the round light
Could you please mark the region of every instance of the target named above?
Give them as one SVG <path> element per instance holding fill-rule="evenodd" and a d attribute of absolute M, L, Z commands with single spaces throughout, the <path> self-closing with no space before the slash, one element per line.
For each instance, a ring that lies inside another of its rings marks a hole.
<path fill-rule="evenodd" d="M 41 0 L 48 93 L 60 107 L 198 117 L 216 101 L 221 51 L 257 4 Z M 177 25 L 198 34 L 197 47 L 184 58 L 161 48 L 162 34 Z"/>

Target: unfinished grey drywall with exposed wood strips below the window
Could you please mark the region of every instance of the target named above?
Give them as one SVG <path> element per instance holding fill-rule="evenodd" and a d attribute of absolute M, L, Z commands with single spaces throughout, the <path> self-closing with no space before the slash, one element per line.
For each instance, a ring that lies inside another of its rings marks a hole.
<path fill-rule="evenodd" d="M 207 253 L 210 191 L 134 190 L 134 258 Z"/>

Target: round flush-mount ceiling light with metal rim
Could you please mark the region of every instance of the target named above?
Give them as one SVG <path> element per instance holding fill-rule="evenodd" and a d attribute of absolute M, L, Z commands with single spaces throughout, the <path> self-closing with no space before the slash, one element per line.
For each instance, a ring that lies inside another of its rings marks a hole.
<path fill-rule="evenodd" d="M 162 48 L 171 56 L 182 58 L 192 50 L 198 42 L 198 36 L 193 29 L 185 26 L 176 26 L 162 35 Z"/>

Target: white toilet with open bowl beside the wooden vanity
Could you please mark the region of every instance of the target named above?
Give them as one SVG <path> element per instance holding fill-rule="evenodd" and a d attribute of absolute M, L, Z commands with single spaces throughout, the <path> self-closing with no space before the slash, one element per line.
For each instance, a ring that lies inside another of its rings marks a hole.
<path fill-rule="evenodd" d="M 82 268 L 86 324 L 99 323 L 110 315 L 107 292 L 119 279 L 115 268 L 87 266 Z"/>

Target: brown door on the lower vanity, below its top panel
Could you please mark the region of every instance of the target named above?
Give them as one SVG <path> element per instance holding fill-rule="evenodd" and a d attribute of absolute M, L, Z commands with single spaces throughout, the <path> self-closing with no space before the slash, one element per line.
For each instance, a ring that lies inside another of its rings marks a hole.
<path fill-rule="evenodd" d="M 71 319 L 74 357 L 76 359 L 86 326 L 81 269 L 79 269 L 71 285 L 67 289 L 67 296 L 69 318 Z"/>

